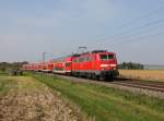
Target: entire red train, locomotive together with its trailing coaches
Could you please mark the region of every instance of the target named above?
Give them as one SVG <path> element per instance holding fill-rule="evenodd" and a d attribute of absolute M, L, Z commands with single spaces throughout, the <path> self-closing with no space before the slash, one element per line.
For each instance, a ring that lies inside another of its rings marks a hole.
<path fill-rule="evenodd" d="M 75 53 L 47 62 L 23 65 L 25 71 L 57 73 L 71 76 L 85 76 L 94 80 L 110 80 L 119 75 L 115 52 L 93 50 Z"/>

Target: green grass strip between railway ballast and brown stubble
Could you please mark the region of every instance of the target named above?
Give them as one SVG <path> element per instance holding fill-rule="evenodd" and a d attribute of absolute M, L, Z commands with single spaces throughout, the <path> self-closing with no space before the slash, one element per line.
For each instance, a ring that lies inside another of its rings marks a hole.
<path fill-rule="evenodd" d="M 95 121 L 164 121 L 164 100 L 96 84 L 30 74 L 60 92 Z"/>

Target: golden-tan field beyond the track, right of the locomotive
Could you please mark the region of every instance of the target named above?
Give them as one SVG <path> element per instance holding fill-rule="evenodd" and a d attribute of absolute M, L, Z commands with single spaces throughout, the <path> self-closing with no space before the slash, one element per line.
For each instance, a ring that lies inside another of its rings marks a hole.
<path fill-rule="evenodd" d="M 164 82 L 164 70 L 119 70 L 119 73 L 130 78 Z"/>

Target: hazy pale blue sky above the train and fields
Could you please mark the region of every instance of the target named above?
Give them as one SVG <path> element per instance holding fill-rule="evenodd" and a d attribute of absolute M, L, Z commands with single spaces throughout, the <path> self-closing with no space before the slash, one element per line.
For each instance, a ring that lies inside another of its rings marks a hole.
<path fill-rule="evenodd" d="M 79 46 L 164 64 L 164 1 L 0 0 L 0 61 L 39 61 L 44 51 L 49 59 Z"/>

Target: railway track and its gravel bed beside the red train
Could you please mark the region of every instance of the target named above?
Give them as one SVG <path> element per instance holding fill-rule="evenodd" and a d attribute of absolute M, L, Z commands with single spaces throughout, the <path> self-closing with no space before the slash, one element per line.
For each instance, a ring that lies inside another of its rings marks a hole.
<path fill-rule="evenodd" d="M 58 75 L 58 74 L 48 74 L 48 75 L 52 75 L 52 76 L 55 75 L 57 77 L 66 78 L 78 83 L 98 84 L 108 87 L 127 89 L 130 92 L 139 92 L 141 94 L 147 94 L 159 98 L 164 98 L 164 82 L 141 81 L 141 80 L 133 80 L 133 78 L 125 78 L 125 77 L 118 77 L 109 82 L 109 81 L 94 81 L 87 78 L 79 78 L 79 77 Z"/>

